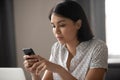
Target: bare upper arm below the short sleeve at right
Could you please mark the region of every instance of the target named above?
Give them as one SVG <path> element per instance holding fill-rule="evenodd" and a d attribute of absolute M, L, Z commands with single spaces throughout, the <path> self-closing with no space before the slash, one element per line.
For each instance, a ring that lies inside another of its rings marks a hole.
<path fill-rule="evenodd" d="M 94 68 L 90 69 L 86 75 L 85 80 L 104 80 L 106 69 Z"/>

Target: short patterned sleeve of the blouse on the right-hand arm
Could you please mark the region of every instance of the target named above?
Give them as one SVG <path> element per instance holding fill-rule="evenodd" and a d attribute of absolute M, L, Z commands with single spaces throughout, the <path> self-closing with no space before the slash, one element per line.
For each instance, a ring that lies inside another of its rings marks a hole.
<path fill-rule="evenodd" d="M 108 49 L 104 42 L 95 46 L 92 54 L 90 68 L 108 68 Z"/>

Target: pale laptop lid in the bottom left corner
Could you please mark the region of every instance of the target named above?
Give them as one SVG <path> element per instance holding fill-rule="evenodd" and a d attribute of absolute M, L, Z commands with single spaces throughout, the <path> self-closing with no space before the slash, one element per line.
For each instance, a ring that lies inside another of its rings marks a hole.
<path fill-rule="evenodd" d="M 26 80 L 22 68 L 0 68 L 0 80 Z"/>

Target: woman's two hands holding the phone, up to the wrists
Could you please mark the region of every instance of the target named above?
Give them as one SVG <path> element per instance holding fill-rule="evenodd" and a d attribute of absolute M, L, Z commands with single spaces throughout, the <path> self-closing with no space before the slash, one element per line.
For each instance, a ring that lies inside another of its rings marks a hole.
<path fill-rule="evenodd" d="M 49 62 L 39 55 L 25 55 L 24 59 L 25 69 L 36 75 L 40 75 L 41 72 L 45 70 L 56 72 L 57 68 L 59 67 L 59 65 Z"/>

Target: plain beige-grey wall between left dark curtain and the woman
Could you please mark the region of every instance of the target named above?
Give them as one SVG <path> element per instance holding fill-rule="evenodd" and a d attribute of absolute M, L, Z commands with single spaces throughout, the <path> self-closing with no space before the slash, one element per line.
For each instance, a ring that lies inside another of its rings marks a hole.
<path fill-rule="evenodd" d="M 60 0 L 14 0 L 15 35 L 18 67 L 23 67 L 22 48 L 31 47 L 36 54 L 49 58 L 56 41 L 48 19 L 50 9 Z M 29 74 L 25 75 L 30 80 Z"/>

